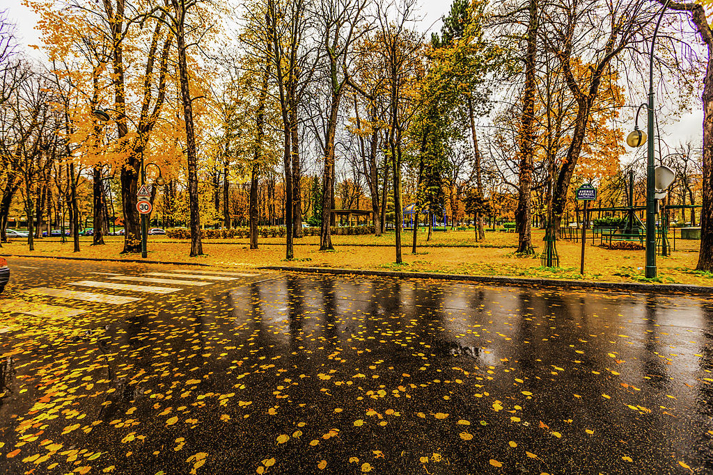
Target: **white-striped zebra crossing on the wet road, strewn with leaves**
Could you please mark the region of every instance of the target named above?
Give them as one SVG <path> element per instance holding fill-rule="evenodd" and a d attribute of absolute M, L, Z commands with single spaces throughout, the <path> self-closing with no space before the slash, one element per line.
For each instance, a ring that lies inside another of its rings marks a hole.
<path fill-rule="evenodd" d="M 165 272 L 144 272 L 129 275 L 113 272 L 93 272 L 95 278 L 68 282 L 71 288 L 35 287 L 21 293 L 25 296 L 44 296 L 58 299 L 61 305 L 24 301 L 21 298 L 1 299 L 0 315 L 21 313 L 36 317 L 63 315 L 67 317 L 87 313 L 85 308 L 73 308 L 74 302 L 103 303 L 122 306 L 143 300 L 147 295 L 167 295 L 187 288 L 210 286 L 215 283 L 236 281 L 260 273 L 230 272 L 227 270 L 171 269 Z M 161 284 L 161 285 L 154 285 Z M 124 294 L 90 291 L 120 291 Z M 130 295 L 125 295 L 129 293 Z"/>

